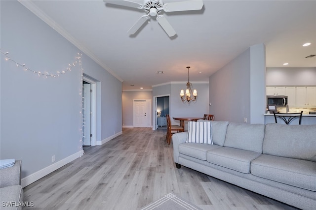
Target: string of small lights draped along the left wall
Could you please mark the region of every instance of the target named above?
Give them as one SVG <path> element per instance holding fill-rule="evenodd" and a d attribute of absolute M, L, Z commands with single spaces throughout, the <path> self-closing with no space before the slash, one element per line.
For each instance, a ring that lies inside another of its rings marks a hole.
<path fill-rule="evenodd" d="M 31 70 L 30 68 L 28 68 L 26 66 L 25 63 L 23 64 L 20 64 L 19 62 L 11 59 L 8 54 L 9 52 L 3 52 L 0 48 L 0 53 L 3 54 L 5 56 L 5 60 L 6 61 L 12 61 L 16 64 L 17 67 L 22 67 L 25 71 L 30 71 L 30 72 L 33 72 L 34 74 L 37 74 L 39 77 L 40 76 L 44 76 L 45 78 L 48 78 L 48 77 L 52 77 L 52 78 L 56 78 L 56 76 L 60 76 L 61 74 L 66 74 L 68 71 L 71 71 L 72 70 L 72 67 L 76 66 L 76 64 L 79 62 L 79 66 L 80 66 L 80 70 L 81 70 L 81 89 L 79 90 L 79 95 L 81 96 L 82 95 L 82 84 L 83 84 L 83 68 L 82 68 L 82 62 L 81 62 L 81 56 L 82 54 L 81 53 L 78 53 L 78 56 L 76 57 L 76 60 L 75 62 L 73 62 L 72 64 L 68 64 L 68 66 L 66 67 L 66 70 L 62 70 L 61 72 L 60 71 L 57 71 L 56 74 L 49 74 L 48 71 L 46 71 L 45 73 L 41 73 L 40 71 L 34 71 L 34 70 Z M 81 97 L 81 110 L 83 109 L 83 97 Z M 84 127 L 85 127 L 85 122 L 84 122 L 84 118 L 83 118 L 83 112 L 80 110 L 79 114 L 81 116 L 81 128 L 79 129 L 80 130 L 80 133 L 81 133 L 81 136 L 80 136 L 80 139 L 79 139 L 79 151 L 82 151 L 82 153 L 80 153 L 80 157 L 84 154 L 84 150 L 82 148 L 82 145 L 83 145 L 83 138 L 85 138 L 85 134 L 83 133 L 83 130 L 84 130 Z"/>

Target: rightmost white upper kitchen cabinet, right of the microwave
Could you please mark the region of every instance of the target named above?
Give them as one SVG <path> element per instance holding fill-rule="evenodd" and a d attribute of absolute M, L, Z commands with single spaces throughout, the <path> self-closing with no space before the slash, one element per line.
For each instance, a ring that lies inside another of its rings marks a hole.
<path fill-rule="evenodd" d="M 296 87 L 296 106 L 315 107 L 316 87 Z"/>

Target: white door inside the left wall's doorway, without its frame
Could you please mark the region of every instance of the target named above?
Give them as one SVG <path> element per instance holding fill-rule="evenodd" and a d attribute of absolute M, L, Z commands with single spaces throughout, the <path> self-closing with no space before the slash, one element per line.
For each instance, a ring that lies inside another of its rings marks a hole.
<path fill-rule="evenodd" d="M 83 84 L 82 92 L 82 114 L 83 114 L 83 146 L 91 146 L 91 84 Z"/>

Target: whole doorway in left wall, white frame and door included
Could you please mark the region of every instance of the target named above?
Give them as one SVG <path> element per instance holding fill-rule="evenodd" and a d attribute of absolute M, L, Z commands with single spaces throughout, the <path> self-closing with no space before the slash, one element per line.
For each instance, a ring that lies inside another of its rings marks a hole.
<path fill-rule="evenodd" d="M 82 144 L 96 145 L 96 82 L 83 75 L 82 82 Z"/>

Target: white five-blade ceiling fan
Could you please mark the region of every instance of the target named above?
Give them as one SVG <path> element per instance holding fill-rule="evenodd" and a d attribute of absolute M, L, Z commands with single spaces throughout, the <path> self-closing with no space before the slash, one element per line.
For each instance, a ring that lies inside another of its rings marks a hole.
<path fill-rule="evenodd" d="M 175 1 L 170 3 L 163 3 L 162 0 L 144 0 L 144 4 L 129 1 L 129 0 L 103 0 L 106 3 L 117 4 L 137 9 L 143 9 L 147 15 L 143 15 L 138 21 L 127 31 L 129 34 L 134 34 L 149 20 L 149 15 L 152 17 L 157 16 L 156 20 L 162 29 L 171 37 L 176 34 L 170 23 L 160 12 L 176 12 L 176 11 L 190 11 L 200 10 L 203 7 L 202 0 L 186 0 Z"/>

